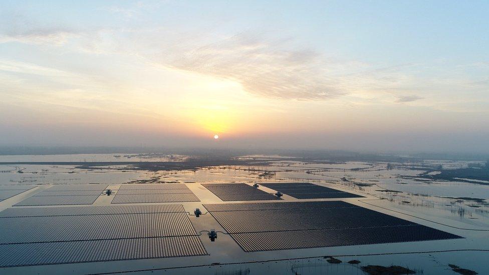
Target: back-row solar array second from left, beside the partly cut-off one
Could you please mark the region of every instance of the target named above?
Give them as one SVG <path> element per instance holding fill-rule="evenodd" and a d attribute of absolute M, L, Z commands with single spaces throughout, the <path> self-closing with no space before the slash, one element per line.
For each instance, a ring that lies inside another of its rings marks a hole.
<path fill-rule="evenodd" d="M 107 184 L 55 185 L 14 206 L 92 204 Z"/>

